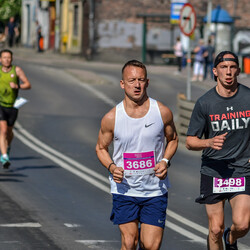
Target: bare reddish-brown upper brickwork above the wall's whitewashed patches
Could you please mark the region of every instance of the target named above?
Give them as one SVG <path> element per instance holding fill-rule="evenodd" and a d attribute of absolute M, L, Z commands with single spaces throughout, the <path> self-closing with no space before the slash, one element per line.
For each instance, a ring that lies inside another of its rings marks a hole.
<path fill-rule="evenodd" d="M 190 0 L 196 14 L 205 16 L 207 12 L 206 0 Z M 238 16 L 235 26 L 250 29 L 250 1 L 249 0 L 212 0 L 213 9 L 220 5 L 231 16 Z M 138 13 L 154 13 L 170 15 L 170 0 L 97 0 L 97 20 L 120 19 L 130 22 L 141 22 L 136 18 Z M 161 24 L 163 25 L 163 24 Z"/>

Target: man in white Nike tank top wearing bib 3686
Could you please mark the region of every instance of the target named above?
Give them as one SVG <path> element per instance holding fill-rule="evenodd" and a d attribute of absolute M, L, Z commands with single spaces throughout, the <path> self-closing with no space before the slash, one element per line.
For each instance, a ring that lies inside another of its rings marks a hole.
<path fill-rule="evenodd" d="M 141 248 L 159 249 L 165 226 L 167 171 L 178 137 L 172 112 L 148 97 L 148 84 L 144 64 L 132 60 L 124 65 L 120 86 L 125 97 L 103 117 L 96 145 L 110 173 L 111 220 L 119 225 L 121 249 L 136 249 L 139 234 Z"/>

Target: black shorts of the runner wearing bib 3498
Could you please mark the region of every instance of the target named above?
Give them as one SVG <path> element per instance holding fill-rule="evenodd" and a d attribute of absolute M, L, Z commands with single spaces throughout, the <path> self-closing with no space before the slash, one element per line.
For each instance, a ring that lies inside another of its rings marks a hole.
<path fill-rule="evenodd" d="M 195 202 L 200 204 L 215 204 L 223 200 L 231 200 L 239 194 L 250 195 L 250 176 L 245 177 L 245 180 L 245 191 L 213 193 L 213 177 L 201 174 L 200 196 L 195 200 Z"/>

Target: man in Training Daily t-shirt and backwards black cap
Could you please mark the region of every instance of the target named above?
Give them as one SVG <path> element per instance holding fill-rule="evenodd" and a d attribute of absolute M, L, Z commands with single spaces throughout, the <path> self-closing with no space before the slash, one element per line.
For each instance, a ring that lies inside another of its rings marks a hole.
<path fill-rule="evenodd" d="M 203 150 L 200 197 L 209 220 L 208 249 L 237 248 L 250 225 L 250 89 L 237 82 L 238 57 L 223 51 L 214 62 L 217 86 L 200 97 L 190 120 L 186 147 Z M 224 231 L 224 204 L 232 225 Z M 224 231 L 224 234 L 223 234 Z"/>

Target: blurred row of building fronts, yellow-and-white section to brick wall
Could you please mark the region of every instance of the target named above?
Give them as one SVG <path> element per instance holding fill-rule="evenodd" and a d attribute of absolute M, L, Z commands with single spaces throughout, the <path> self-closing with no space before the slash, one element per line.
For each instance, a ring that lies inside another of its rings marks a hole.
<path fill-rule="evenodd" d="M 171 23 L 174 1 L 177 0 L 23 0 L 22 44 L 34 44 L 35 21 L 38 20 L 44 48 L 61 53 L 100 59 L 105 56 L 106 60 L 116 61 L 124 56 L 141 58 L 143 46 L 147 51 L 169 51 L 176 37 L 181 35 L 178 24 Z M 211 2 L 213 9 L 220 5 L 233 19 L 233 23 L 222 30 L 221 24 L 214 23 L 211 33 L 227 30 L 230 34 L 223 39 L 230 41 L 223 45 L 224 48 L 236 53 L 250 51 L 248 0 L 188 2 L 197 15 L 191 47 L 204 37 L 204 17 Z"/>

